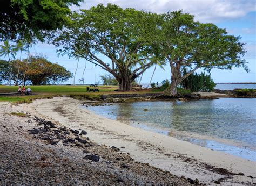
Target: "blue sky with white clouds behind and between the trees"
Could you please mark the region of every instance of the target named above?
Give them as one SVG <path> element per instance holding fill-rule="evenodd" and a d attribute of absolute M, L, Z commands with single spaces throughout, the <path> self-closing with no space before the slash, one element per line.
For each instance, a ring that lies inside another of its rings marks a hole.
<path fill-rule="evenodd" d="M 245 59 L 251 70 L 249 73 L 242 68 L 232 70 L 211 70 L 214 82 L 256 82 L 256 1 L 255 0 L 85 0 L 80 7 L 72 6 L 71 10 L 89 9 L 97 4 L 117 4 L 122 8 L 134 8 L 136 10 L 151 11 L 155 13 L 166 13 L 168 11 L 183 10 L 191 13 L 194 19 L 201 23 L 213 23 L 220 28 L 225 28 L 228 34 L 241 36 L 241 42 L 246 43 L 247 53 Z M 56 48 L 46 43 L 38 43 L 31 48 L 31 54 L 42 53 L 48 56 L 51 62 L 63 65 L 72 73 L 75 72 L 77 60 L 69 59 L 68 56 L 57 56 Z M 25 58 L 25 54 L 24 54 Z M 102 58 L 103 60 L 106 60 Z M 85 60 L 80 59 L 75 83 L 79 83 L 85 66 Z M 197 72 L 201 72 L 199 69 Z M 141 83 L 149 83 L 153 73 L 153 67 L 143 75 Z M 85 70 L 85 83 L 91 84 L 100 81 L 99 75 L 107 74 L 100 67 L 87 63 Z M 156 69 L 152 82 L 161 82 L 170 79 L 170 67 L 165 70 Z M 73 78 L 65 82 L 72 84 Z"/>

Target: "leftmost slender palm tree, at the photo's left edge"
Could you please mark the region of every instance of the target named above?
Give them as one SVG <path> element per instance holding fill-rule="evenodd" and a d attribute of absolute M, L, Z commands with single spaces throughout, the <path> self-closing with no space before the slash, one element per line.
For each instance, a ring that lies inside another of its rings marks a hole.
<path fill-rule="evenodd" d="M 1 46 L 0 56 L 3 56 L 3 55 L 8 56 L 9 65 L 10 65 L 10 77 L 9 77 L 9 80 L 6 84 L 10 83 L 10 85 L 11 85 L 12 67 L 11 67 L 11 58 L 10 58 L 10 56 L 12 56 L 12 58 L 15 59 L 17 48 L 15 47 L 15 45 L 11 45 L 8 40 L 4 41 L 4 44 L 0 45 L 0 46 Z"/>

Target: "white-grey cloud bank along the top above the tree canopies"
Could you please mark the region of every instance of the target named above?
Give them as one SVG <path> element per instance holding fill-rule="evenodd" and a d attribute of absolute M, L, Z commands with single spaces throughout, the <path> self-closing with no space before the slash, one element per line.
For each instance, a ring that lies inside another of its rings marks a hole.
<path fill-rule="evenodd" d="M 122 8 L 165 13 L 183 9 L 196 16 L 201 22 L 218 22 L 224 19 L 237 19 L 256 10 L 255 0 L 86 0 L 80 8 L 89 9 L 99 3 L 117 4 Z"/>

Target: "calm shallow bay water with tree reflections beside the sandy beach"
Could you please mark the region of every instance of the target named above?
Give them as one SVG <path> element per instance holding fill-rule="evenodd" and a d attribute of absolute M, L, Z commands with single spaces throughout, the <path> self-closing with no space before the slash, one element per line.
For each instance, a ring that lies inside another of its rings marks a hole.
<path fill-rule="evenodd" d="M 144 130 L 256 161 L 255 98 L 129 102 L 89 106 L 89 110 Z"/>

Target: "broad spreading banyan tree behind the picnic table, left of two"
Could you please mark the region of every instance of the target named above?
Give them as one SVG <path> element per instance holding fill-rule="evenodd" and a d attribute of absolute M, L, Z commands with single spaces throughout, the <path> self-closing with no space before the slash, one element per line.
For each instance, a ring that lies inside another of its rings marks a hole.
<path fill-rule="evenodd" d="M 85 58 L 103 68 L 119 82 L 120 91 L 129 91 L 137 77 L 159 63 L 159 20 L 154 13 L 99 4 L 74 12 L 54 44 L 60 54 Z"/>

